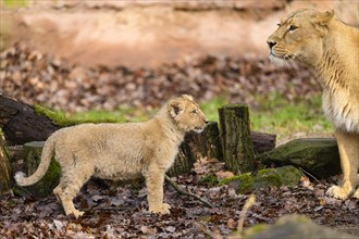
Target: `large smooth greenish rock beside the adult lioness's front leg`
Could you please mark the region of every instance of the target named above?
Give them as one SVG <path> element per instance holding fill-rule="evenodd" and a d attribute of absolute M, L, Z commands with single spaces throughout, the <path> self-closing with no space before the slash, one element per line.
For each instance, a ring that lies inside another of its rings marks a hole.
<path fill-rule="evenodd" d="M 296 139 L 261 158 L 267 165 L 294 165 L 318 178 L 327 178 L 341 173 L 341 160 L 334 138 Z"/>

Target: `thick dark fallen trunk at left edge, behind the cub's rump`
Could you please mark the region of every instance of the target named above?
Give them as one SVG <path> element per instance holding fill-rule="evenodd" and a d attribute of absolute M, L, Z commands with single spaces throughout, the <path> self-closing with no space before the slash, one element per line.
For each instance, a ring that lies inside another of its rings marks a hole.
<path fill-rule="evenodd" d="M 8 146 L 15 146 L 46 140 L 61 127 L 37 114 L 33 106 L 0 95 L 0 128 Z"/>

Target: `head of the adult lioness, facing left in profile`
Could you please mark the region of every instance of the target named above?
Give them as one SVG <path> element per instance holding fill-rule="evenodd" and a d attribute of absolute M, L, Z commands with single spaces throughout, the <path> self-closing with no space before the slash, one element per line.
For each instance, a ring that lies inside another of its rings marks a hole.
<path fill-rule="evenodd" d="M 334 11 L 302 9 L 284 17 L 267 40 L 271 60 L 280 65 L 292 61 L 315 64 L 323 53 L 322 39 L 333 15 Z"/>

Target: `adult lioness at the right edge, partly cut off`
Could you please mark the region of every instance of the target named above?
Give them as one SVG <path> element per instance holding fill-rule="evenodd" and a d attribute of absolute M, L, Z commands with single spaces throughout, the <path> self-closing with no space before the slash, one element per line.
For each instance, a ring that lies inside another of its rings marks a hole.
<path fill-rule="evenodd" d="M 274 63 L 311 67 L 323 86 L 323 110 L 336 131 L 343 183 L 326 194 L 346 199 L 355 191 L 359 167 L 359 30 L 334 11 L 298 10 L 284 17 L 268 38 Z M 354 193 L 359 199 L 359 189 Z"/>

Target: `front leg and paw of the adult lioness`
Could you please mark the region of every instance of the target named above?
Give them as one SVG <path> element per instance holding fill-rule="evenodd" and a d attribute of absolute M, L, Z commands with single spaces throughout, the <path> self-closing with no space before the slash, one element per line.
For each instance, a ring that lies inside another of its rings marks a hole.
<path fill-rule="evenodd" d="M 357 174 L 359 167 L 359 135 L 336 130 L 335 138 L 337 140 L 341 154 L 343 183 L 341 186 L 332 186 L 326 191 L 326 194 L 338 199 L 346 199 L 357 186 Z M 357 192 L 354 197 L 359 196 Z"/>

